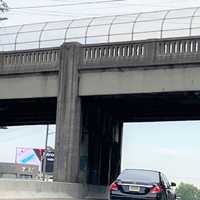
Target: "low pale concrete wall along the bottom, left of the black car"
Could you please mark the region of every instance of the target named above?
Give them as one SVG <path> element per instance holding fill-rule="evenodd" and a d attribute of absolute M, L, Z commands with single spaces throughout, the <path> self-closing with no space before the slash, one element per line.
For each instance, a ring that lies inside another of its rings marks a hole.
<path fill-rule="evenodd" d="M 103 186 L 35 180 L 0 180 L 0 200 L 80 200 L 106 199 L 106 197 L 107 189 Z"/>

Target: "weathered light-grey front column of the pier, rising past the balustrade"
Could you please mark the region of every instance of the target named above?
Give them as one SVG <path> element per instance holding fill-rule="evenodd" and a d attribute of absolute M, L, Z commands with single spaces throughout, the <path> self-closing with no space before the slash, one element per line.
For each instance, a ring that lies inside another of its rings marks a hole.
<path fill-rule="evenodd" d="M 81 102 L 78 68 L 81 59 L 80 44 L 62 45 L 56 118 L 56 181 L 79 182 Z"/>

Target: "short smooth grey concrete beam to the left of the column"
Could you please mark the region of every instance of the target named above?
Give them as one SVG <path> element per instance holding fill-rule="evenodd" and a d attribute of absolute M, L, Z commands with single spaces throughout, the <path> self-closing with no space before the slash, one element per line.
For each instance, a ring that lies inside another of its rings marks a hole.
<path fill-rule="evenodd" d="M 0 99 L 56 97 L 57 73 L 0 76 Z"/>

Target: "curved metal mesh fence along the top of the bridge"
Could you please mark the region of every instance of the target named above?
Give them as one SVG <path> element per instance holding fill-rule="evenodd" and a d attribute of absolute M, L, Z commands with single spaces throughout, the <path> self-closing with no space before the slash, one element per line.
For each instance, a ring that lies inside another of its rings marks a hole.
<path fill-rule="evenodd" d="M 0 28 L 0 51 L 198 36 L 200 7 L 24 24 Z"/>

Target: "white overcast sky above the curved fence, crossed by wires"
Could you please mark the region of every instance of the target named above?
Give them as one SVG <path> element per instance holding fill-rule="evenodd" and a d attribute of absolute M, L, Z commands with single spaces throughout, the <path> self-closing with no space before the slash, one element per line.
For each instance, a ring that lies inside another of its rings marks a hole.
<path fill-rule="evenodd" d="M 10 11 L 3 21 L 3 26 L 27 24 L 34 22 L 77 19 L 83 17 L 119 15 L 145 11 L 165 10 L 184 7 L 200 6 L 200 0 L 6 0 Z M 106 3 L 107 1 L 107 3 Z M 92 4 L 89 2 L 93 2 Z M 101 3 L 105 2 L 105 3 Z M 77 4 L 80 5 L 77 5 Z M 85 4 L 83 4 L 85 3 Z M 88 3 L 88 4 L 87 4 Z M 24 6 L 69 4 L 62 7 L 48 7 L 37 9 L 19 9 Z"/>

